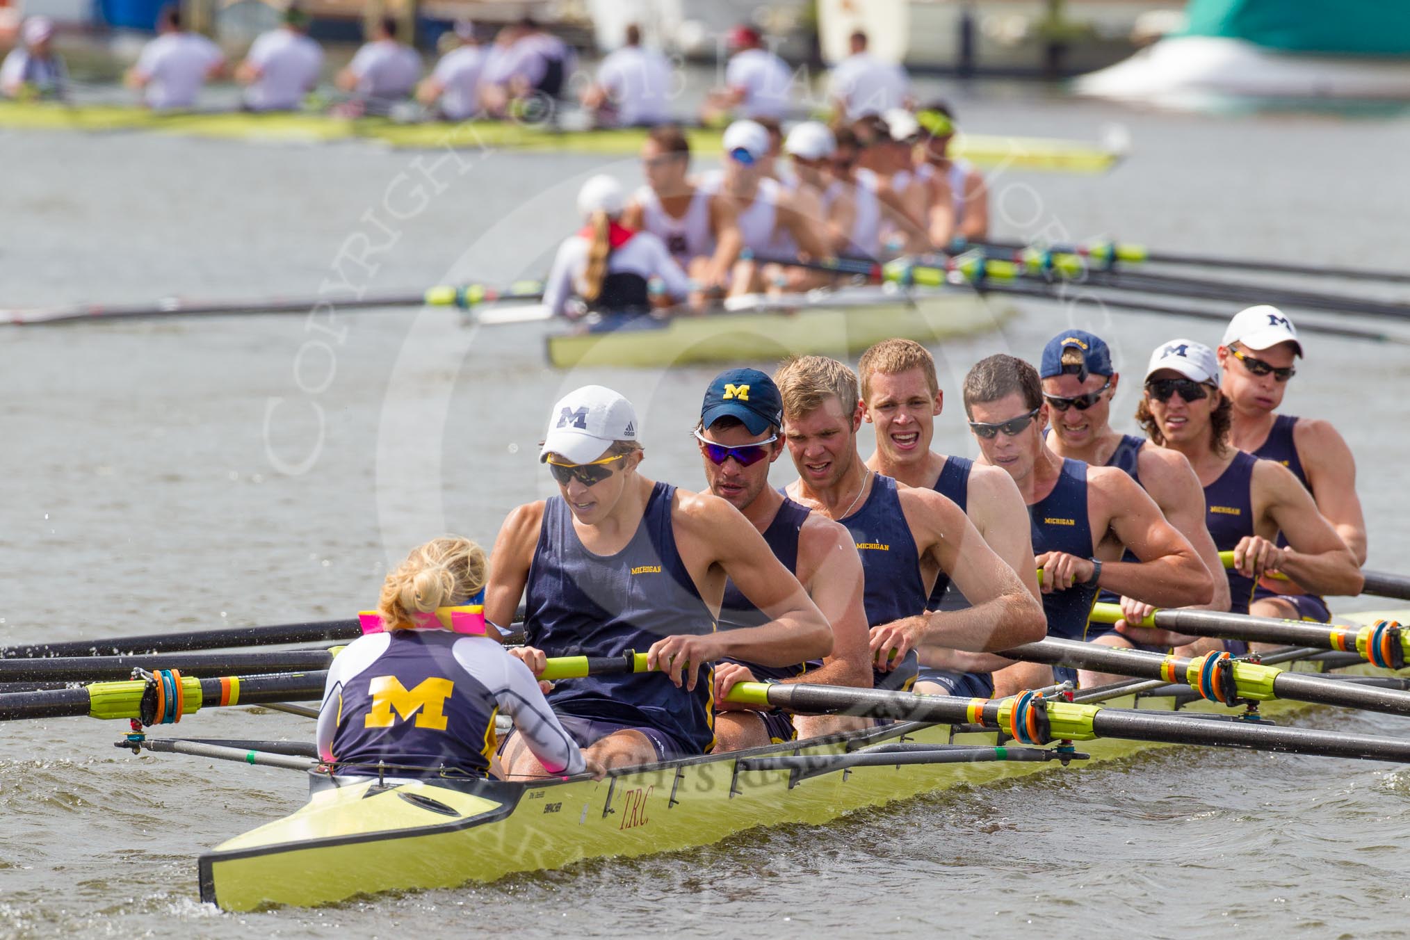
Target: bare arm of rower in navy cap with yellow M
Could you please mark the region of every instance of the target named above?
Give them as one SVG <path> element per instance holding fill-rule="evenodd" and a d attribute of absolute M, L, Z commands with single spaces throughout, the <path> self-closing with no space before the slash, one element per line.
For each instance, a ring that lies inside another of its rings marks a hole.
<path fill-rule="evenodd" d="M 818 610 L 832 624 L 832 655 L 821 669 L 784 682 L 871 685 L 864 576 L 846 526 L 812 513 L 798 533 L 798 574 Z"/>

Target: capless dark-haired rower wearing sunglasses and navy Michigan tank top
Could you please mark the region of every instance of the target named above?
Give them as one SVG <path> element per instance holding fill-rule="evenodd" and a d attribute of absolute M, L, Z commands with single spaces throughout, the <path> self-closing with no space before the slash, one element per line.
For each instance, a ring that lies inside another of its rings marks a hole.
<path fill-rule="evenodd" d="M 1001 466 L 1028 505 L 1035 562 L 1042 569 L 1048 634 L 1127 645 L 1111 627 L 1087 623 L 1097 590 L 1141 598 L 1160 607 L 1208 603 L 1214 582 L 1190 541 L 1127 474 L 1058 457 L 1043 440 L 1049 406 L 1038 369 L 991 355 L 964 376 L 964 410 L 980 462 Z M 1121 561 L 1129 548 L 1136 561 Z M 1046 667 L 1010 667 L 1024 685 L 1042 685 Z M 1097 674 L 1059 667 L 1058 678 L 1091 685 Z M 1038 678 L 1038 682 L 1032 679 Z"/>

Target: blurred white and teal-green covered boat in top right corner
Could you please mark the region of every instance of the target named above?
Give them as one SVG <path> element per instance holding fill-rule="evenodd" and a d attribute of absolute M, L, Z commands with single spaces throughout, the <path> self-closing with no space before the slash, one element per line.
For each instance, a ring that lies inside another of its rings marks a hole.
<path fill-rule="evenodd" d="M 1186 25 L 1076 82 L 1179 109 L 1410 100 L 1410 3 L 1191 0 Z"/>

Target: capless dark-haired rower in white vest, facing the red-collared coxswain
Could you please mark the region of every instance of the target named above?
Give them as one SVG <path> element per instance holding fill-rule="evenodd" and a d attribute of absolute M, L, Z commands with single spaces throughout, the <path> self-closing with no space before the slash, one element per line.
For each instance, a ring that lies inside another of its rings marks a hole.
<path fill-rule="evenodd" d="M 663 124 L 642 144 L 642 175 L 646 185 L 627 202 L 622 224 L 651 233 L 663 242 L 691 279 L 701 287 L 723 289 L 728 264 L 716 264 L 716 233 L 733 224 L 706 186 L 689 176 L 691 144 L 681 128 Z"/>

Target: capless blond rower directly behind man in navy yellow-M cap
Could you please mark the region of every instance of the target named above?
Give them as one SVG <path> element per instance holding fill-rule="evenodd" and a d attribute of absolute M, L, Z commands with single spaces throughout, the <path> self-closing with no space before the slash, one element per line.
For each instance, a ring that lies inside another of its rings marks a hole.
<path fill-rule="evenodd" d="M 1041 605 L 959 506 L 862 462 L 857 431 L 866 406 L 852 369 L 836 359 L 802 357 L 784 362 L 774 382 L 799 475 L 787 495 L 846 526 L 862 555 L 877 686 L 908 688 L 921 645 L 991 653 L 1042 636 Z M 926 600 L 940 575 L 973 606 L 929 610 Z"/>

